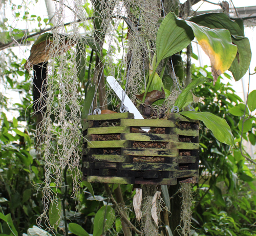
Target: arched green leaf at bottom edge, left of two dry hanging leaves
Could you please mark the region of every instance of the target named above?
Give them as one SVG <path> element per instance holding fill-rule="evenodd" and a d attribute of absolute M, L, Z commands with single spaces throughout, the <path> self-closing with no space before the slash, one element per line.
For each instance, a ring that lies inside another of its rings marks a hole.
<path fill-rule="evenodd" d="M 108 231 L 115 222 L 115 211 L 111 206 L 102 206 L 97 211 L 93 222 L 93 236 L 100 236 L 102 234 L 104 217 L 104 231 Z"/>

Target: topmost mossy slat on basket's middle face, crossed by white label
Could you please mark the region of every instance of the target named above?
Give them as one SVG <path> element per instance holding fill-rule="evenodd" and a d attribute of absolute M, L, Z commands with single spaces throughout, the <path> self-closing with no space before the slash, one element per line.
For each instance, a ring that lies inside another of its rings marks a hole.
<path fill-rule="evenodd" d="M 174 127 L 175 123 L 170 120 L 134 120 L 123 119 L 121 126 L 140 126 L 140 127 Z"/>

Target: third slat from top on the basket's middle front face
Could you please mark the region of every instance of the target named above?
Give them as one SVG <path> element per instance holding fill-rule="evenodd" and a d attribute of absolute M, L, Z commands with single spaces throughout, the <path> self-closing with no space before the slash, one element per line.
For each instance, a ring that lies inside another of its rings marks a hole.
<path fill-rule="evenodd" d="M 127 147 L 127 148 L 121 148 L 121 155 L 177 157 L 178 149 Z"/>

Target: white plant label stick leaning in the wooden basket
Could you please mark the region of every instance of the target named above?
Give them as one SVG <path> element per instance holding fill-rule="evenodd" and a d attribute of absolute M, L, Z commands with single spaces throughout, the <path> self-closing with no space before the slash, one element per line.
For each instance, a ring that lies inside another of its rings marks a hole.
<path fill-rule="evenodd" d="M 116 81 L 116 79 L 113 76 L 108 76 L 106 77 L 106 81 L 109 83 L 110 87 L 114 90 L 119 99 L 121 101 L 123 99 L 123 104 L 127 106 L 130 113 L 134 114 L 134 119 L 144 119 L 139 110 L 133 104 L 132 100 L 124 93 L 122 87 Z M 141 127 L 141 130 L 148 132 L 150 131 L 150 127 Z"/>

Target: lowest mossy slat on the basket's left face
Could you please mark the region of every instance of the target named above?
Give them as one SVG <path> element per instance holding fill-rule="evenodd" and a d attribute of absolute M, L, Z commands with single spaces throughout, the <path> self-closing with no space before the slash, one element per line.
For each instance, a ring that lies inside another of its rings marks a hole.
<path fill-rule="evenodd" d="M 134 177 L 101 177 L 101 176 L 88 176 L 88 182 L 93 183 L 114 183 L 114 184 L 133 184 Z"/>

